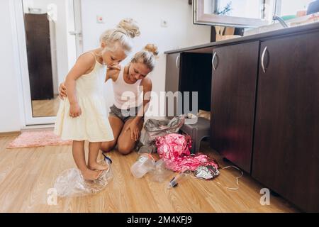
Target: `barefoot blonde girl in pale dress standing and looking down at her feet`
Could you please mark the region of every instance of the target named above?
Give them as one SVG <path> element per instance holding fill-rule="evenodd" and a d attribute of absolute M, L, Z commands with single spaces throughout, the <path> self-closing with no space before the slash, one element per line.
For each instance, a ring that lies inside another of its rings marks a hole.
<path fill-rule="evenodd" d="M 81 55 L 67 74 L 67 99 L 61 101 L 57 112 L 55 133 L 63 140 L 73 140 L 72 154 L 84 179 L 97 179 L 106 170 L 96 159 L 101 142 L 114 139 L 103 99 L 105 65 L 116 67 L 125 59 L 137 35 L 140 31 L 132 19 L 121 21 L 116 29 L 101 35 L 100 48 Z M 87 165 L 84 140 L 89 140 Z"/>

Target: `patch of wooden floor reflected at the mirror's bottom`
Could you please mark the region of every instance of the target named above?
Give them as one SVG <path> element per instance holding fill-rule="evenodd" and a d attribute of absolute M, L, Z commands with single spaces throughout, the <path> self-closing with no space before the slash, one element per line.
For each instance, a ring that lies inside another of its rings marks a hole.
<path fill-rule="evenodd" d="M 33 100 L 32 111 L 34 117 L 57 116 L 59 110 L 60 98 L 55 96 L 54 99 Z"/>

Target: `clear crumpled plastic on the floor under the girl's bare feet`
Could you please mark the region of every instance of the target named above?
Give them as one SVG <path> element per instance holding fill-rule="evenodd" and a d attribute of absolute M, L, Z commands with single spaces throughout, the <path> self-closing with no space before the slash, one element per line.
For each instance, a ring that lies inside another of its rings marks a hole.
<path fill-rule="evenodd" d="M 63 171 L 57 177 L 54 185 L 54 188 L 57 190 L 57 196 L 86 196 L 101 192 L 113 178 L 111 162 L 108 160 L 109 158 L 103 160 L 108 165 L 108 170 L 104 170 L 101 177 L 94 181 L 84 180 L 80 170 L 77 168 Z"/>

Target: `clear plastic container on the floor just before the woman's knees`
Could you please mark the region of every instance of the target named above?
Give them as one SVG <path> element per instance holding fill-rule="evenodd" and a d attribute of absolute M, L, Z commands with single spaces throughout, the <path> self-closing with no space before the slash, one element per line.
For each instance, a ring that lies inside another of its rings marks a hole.
<path fill-rule="evenodd" d="M 155 160 L 150 154 L 142 154 L 138 157 L 138 161 L 135 162 L 132 167 L 130 167 L 130 172 L 132 172 L 134 177 L 141 178 L 147 172 L 154 169 Z"/>

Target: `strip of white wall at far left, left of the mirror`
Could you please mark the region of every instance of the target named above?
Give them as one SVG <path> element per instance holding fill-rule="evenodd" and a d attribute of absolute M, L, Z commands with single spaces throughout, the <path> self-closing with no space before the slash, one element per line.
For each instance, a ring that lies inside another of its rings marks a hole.
<path fill-rule="evenodd" d="M 0 1 L 0 133 L 20 131 L 23 125 L 21 114 L 22 101 L 19 98 L 21 87 L 18 80 L 18 65 L 16 62 L 16 40 L 14 28 L 11 26 L 11 0 Z"/>

